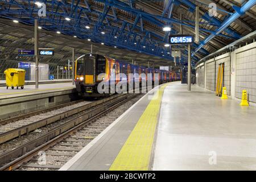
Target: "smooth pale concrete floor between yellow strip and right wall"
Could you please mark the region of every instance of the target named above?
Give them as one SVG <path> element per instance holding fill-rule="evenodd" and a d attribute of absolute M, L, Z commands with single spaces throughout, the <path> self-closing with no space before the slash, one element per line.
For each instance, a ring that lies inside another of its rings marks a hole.
<path fill-rule="evenodd" d="M 256 107 L 198 86 L 164 90 L 154 170 L 255 170 Z"/>

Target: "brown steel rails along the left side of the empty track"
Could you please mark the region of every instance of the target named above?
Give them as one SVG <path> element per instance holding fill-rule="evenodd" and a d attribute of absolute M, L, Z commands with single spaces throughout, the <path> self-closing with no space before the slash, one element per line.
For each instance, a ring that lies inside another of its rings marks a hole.
<path fill-rule="evenodd" d="M 69 135 L 75 133 L 81 127 L 88 125 L 90 122 L 94 121 L 94 119 L 108 113 L 109 110 L 115 109 L 116 107 L 131 100 L 135 96 L 137 96 L 137 94 L 125 94 L 119 96 L 113 99 L 112 102 L 108 102 L 108 104 L 104 106 L 98 107 L 93 111 L 89 111 L 89 113 L 80 115 L 79 117 L 72 119 L 71 121 L 68 121 L 63 125 L 58 126 L 51 131 L 48 131 L 47 134 L 44 134 L 39 138 L 36 138 L 30 142 L 23 144 L 22 146 L 19 146 L 17 148 L 14 148 L 13 150 L 5 152 L 4 154 L 1 154 L 0 165 L 3 166 L 0 167 L 0 171 L 10 171 L 19 168 L 22 163 L 28 162 L 29 160 L 34 158 L 34 156 L 38 155 L 39 151 L 46 150 L 47 148 L 55 145 L 64 138 L 69 137 Z M 13 161 L 10 162 L 10 160 Z"/>

